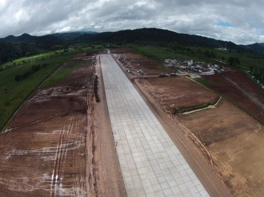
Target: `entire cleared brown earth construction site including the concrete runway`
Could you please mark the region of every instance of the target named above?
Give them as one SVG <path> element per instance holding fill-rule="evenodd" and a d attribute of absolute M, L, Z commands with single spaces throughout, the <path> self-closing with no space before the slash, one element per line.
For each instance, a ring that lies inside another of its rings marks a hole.
<path fill-rule="evenodd" d="M 264 92 L 241 70 L 201 85 L 128 49 L 71 61 L 0 135 L 0 196 L 264 196 Z"/>

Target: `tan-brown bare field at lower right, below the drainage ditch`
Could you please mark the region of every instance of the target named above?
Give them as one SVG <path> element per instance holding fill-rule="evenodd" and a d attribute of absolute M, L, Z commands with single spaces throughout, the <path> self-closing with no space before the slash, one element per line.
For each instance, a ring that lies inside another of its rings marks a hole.
<path fill-rule="evenodd" d="M 263 125 L 225 99 L 216 109 L 176 117 L 235 197 L 264 196 Z"/>

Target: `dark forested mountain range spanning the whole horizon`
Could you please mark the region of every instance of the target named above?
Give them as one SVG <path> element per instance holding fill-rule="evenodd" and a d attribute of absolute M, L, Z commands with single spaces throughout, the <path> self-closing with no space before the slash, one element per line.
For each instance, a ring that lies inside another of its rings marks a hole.
<path fill-rule="evenodd" d="M 24 57 L 27 52 L 36 54 L 45 50 L 55 50 L 67 47 L 71 43 L 102 42 L 102 43 L 138 43 L 160 44 L 177 43 L 182 46 L 201 46 L 208 48 L 226 48 L 237 52 L 264 53 L 264 43 L 236 45 L 230 41 L 216 40 L 199 35 L 176 33 L 156 28 L 123 30 L 118 32 L 69 32 L 55 33 L 43 36 L 33 36 L 24 33 L 19 36 L 9 35 L 0 38 L 0 64 L 16 58 Z"/>

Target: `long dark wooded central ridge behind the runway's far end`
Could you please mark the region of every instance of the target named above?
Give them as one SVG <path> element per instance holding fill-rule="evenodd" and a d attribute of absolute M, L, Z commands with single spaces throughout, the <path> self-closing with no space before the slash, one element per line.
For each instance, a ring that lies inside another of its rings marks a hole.
<path fill-rule="evenodd" d="M 199 35 L 186 33 L 176 33 L 169 30 L 156 28 L 143 28 L 136 30 L 123 30 L 118 32 L 104 32 L 97 34 L 83 34 L 76 40 L 79 41 L 102 41 L 102 42 L 121 42 L 133 43 L 135 41 L 146 42 L 177 42 L 184 46 L 205 46 L 235 48 L 233 42 L 221 41 Z"/>

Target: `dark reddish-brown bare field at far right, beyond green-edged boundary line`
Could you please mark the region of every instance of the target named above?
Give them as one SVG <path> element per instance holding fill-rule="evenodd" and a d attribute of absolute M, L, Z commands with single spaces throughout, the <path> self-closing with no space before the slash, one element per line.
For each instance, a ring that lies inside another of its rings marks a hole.
<path fill-rule="evenodd" d="M 232 100 L 264 124 L 264 90 L 254 84 L 241 70 L 229 68 L 228 72 L 203 75 L 206 87 Z"/>

